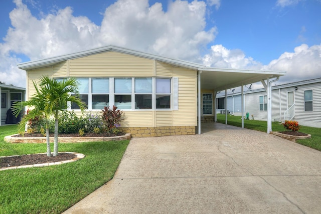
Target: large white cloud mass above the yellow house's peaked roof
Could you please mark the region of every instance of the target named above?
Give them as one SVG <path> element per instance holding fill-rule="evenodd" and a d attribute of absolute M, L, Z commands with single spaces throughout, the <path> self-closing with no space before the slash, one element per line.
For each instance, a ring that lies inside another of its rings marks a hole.
<path fill-rule="evenodd" d="M 37 19 L 22 0 L 14 0 L 16 8 L 10 13 L 12 27 L 1 45 L 0 69 L 7 84 L 25 86 L 16 82 L 22 76 L 16 68 L 19 61 L 13 54 L 25 55 L 31 60 L 73 53 L 105 45 L 119 45 L 158 55 L 197 61 L 200 50 L 215 39 L 217 30 L 206 28 L 206 7 L 203 1 L 177 0 L 167 12 L 162 4 L 148 5 L 148 0 L 118 0 L 103 14 L 101 26 L 87 17 L 73 16 L 70 7 Z M 31 1 L 34 3 L 34 1 Z M 211 4 L 219 6 L 219 1 Z M 12 64 L 11 64 L 12 63 Z M 18 75 L 17 75 L 18 73 Z"/>

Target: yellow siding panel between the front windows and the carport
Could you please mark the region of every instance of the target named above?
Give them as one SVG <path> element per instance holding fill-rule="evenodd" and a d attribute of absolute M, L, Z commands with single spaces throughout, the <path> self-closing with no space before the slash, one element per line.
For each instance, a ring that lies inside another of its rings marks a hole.
<path fill-rule="evenodd" d="M 173 111 L 173 125 L 197 125 L 197 72 L 179 67 L 173 69 L 173 76 L 179 78 L 179 110 Z"/>

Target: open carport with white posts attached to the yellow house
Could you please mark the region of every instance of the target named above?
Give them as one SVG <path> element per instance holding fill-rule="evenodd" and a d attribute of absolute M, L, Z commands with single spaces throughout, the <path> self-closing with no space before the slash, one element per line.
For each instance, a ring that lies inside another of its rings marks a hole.
<path fill-rule="evenodd" d="M 201 89 L 214 92 L 214 115 L 216 120 L 216 95 L 225 91 L 225 106 L 227 105 L 227 89 L 241 86 L 242 93 L 242 128 L 244 128 L 244 96 L 243 86 L 261 82 L 267 93 L 267 133 L 272 131 L 271 119 L 271 84 L 285 75 L 284 71 L 242 70 L 227 68 L 204 68 L 198 71 L 198 133 L 201 134 Z M 225 108 L 226 109 L 226 108 Z M 225 113 L 227 124 L 227 114 Z"/>

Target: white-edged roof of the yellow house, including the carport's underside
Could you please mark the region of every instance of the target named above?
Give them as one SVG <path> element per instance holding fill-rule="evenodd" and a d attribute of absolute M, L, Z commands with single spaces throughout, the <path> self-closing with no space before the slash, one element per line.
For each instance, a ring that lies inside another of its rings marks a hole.
<path fill-rule="evenodd" d="M 225 68 L 210 68 L 202 64 L 187 62 L 183 60 L 177 60 L 153 54 L 148 54 L 140 51 L 135 51 L 118 46 L 106 46 L 87 51 L 51 57 L 47 59 L 30 61 L 26 63 L 18 64 L 18 68 L 23 70 L 32 70 L 41 67 L 48 67 L 65 60 L 81 58 L 92 54 L 99 54 L 102 52 L 119 52 L 124 54 L 130 54 L 137 57 L 143 57 L 160 62 L 165 62 L 171 65 L 194 69 L 201 73 L 201 88 L 214 91 L 221 91 L 241 85 L 246 85 L 254 82 L 259 82 L 262 79 L 273 78 L 283 76 L 286 74 L 284 71 L 264 71 L 264 70 L 245 70 L 245 69 L 225 69 Z"/>

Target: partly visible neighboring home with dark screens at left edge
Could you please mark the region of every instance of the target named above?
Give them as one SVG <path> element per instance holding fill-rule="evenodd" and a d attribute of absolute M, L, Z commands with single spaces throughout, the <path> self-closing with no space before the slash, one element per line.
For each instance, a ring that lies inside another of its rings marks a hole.
<path fill-rule="evenodd" d="M 0 126 L 4 124 L 18 123 L 21 120 L 21 117 L 16 118 L 13 116 L 11 106 L 16 101 L 25 101 L 25 88 L 0 83 L 0 94 Z"/>

